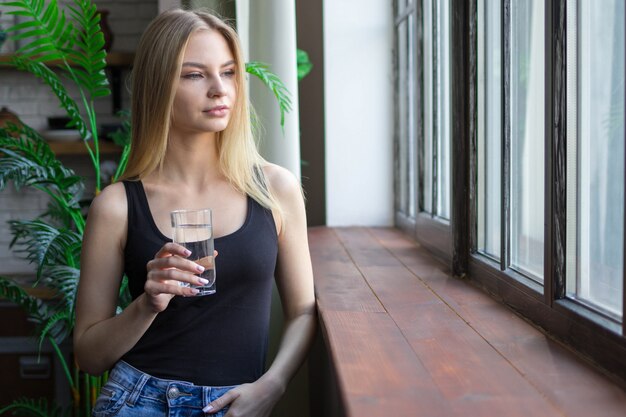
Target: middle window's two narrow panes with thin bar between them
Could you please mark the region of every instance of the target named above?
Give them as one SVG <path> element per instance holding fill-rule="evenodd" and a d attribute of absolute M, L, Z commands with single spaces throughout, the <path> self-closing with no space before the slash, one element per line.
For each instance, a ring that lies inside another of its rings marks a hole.
<path fill-rule="evenodd" d="M 544 253 L 543 9 L 540 0 L 511 2 L 504 16 L 506 36 L 501 4 L 480 0 L 477 13 L 476 250 L 502 270 L 511 268 L 539 283 Z"/>

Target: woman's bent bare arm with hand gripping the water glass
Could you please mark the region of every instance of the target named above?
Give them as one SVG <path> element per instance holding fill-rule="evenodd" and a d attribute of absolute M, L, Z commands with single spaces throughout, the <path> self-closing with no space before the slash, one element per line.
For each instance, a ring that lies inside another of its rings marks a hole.
<path fill-rule="evenodd" d="M 92 375 L 110 369 L 128 352 L 175 294 L 191 295 L 190 288 L 170 280 L 198 279 L 184 272 L 196 267 L 184 259 L 184 248 L 166 244 L 148 264 L 145 292 L 116 316 L 126 231 L 124 186 L 114 184 L 94 199 L 89 210 L 76 296 L 74 353 L 80 368 Z"/>

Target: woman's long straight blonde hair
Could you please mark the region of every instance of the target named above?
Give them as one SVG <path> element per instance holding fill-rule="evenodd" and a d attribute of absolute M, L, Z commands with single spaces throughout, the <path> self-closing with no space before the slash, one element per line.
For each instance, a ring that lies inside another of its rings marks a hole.
<path fill-rule="evenodd" d="M 162 166 L 183 53 L 190 35 L 206 29 L 224 37 L 236 66 L 237 100 L 228 126 L 217 133 L 219 168 L 235 189 L 282 217 L 263 174 L 262 167 L 267 162 L 259 154 L 252 134 L 239 38 L 232 27 L 208 12 L 169 10 L 157 16 L 144 31 L 133 65 L 132 146 L 122 179 L 139 180 Z"/>

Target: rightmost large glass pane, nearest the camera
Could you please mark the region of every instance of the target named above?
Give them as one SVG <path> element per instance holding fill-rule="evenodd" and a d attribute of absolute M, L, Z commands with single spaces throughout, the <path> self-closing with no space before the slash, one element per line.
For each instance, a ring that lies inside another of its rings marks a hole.
<path fill-rule="evenodd" d="M 622 317 L 624 1 L 567 6 L 567 294 Z"/>

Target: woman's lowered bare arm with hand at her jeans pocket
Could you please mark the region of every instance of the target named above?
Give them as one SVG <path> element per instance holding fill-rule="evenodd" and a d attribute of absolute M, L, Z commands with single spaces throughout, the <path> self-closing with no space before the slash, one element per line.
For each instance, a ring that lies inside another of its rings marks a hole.
<path fill-rule="evenodd" d="M 278 238 L 276 282 L 285 327 L 278 353 L 268 371 L 213 401 L 204 410 L 215 413 L 231 404 L 230 416 L 269 416 L 308 354 L 317 322 L 313 272 L 307 237 L 306 213 L 299 182 L 283 168 L 270 166 L 266 174 L 285 212 Z"/>

